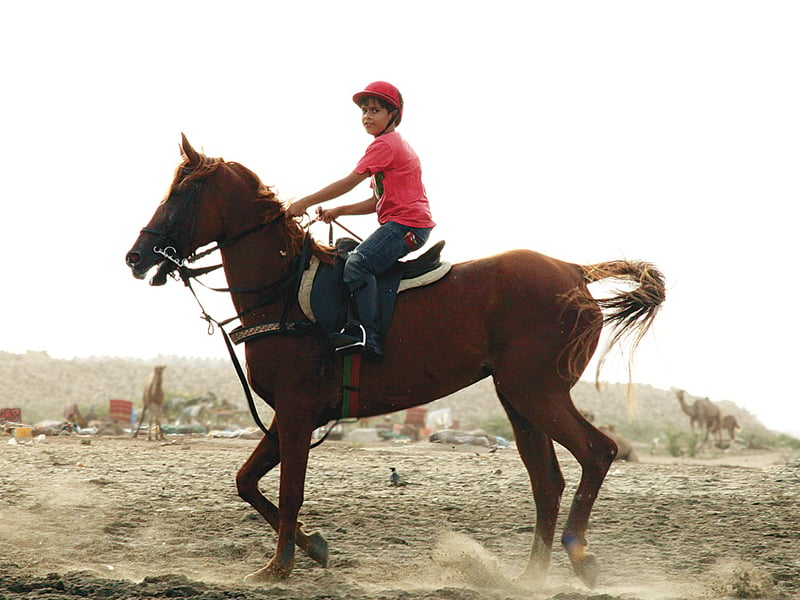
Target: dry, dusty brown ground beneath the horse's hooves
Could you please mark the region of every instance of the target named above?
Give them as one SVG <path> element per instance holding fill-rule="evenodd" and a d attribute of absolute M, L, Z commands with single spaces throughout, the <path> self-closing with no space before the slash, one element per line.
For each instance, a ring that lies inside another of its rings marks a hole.
<path fill-rule="evenodd" d="M 300 553 L 288 581 L 253 587 L 242 578 L 275 541 L 236 495 L 255 441 L 8 441 L 0 600 L 800 598 L 800 463 L 776 454 L 615 463 L 589 531 L 599 587 L 556 549 L 549 586 L 526 590 L 513 577 L 534 510 L 515 450 L 328 442 L 312 452 L 301 516 L 327 538 L 330 567 Z M 560 456 L 566 512 L 579 468 Z M 391 466 L 411 485 L 389 487 Z M 275 474 L 262 488 L 276 497 Z"/>

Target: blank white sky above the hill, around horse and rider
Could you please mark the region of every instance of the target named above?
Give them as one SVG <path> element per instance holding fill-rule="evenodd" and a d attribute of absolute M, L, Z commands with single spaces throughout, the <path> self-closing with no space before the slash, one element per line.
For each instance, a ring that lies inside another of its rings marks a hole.
<path fill-rule="evenodd" d="M 350 97 L 385 79 L 447 259 L 654 262 L 634 380 L 800 433 L 798 31 L 791 1 L 12 3 L 0 350 L 225 357 L 180 284 L 124 264 L 180 132 L 300 197 L 353 168 Z"/>

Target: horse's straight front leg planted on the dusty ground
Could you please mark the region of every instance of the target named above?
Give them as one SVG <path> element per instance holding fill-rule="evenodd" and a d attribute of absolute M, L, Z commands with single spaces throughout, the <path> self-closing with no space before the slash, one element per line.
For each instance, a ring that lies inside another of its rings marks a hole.
<path fill-rule="evenodd" d="M 249 582 L 286 579 L 294 568 L 295 546 L 298 544 L 298 530 L 302 531 L 297 516 L 303 504 L 303 489 L 305 486 L 308 452 L 313 428 L 310 426 L 304 427 L 302 419 L 298 419 L 297 422 L 281 423 L 278 427 L 278 431 L 280 444 L 280 452 L 278 454 L 282 455 L 282 458 L 279 458 L 278 455 L 274 459 L 274 464 L 277 464 L 278 459 L 282 462 L 276 528 L 278 531 L 278 541 L 275 547 L 275 555 L 265 567 L 246 577 L 245 580 Z M 273 436 L 268 437 L 272 439 Z M 262 441 L 262 444 L 263 443 Z M 264 501 L 269 504 L 266 499 L 264 499 Z M 275 527 L 273 523 L 274 512 L 267 509 L 266 513 L 262 514 L 264 514 L 265 518 L 270 521 L 270 524 Z M 310 537 L 313 537 L 305 536 L 305 534 L 302 535 L 306 538 L 305 541 L 307 544 L 311 541 Z M 324 540 L 322 540 L 322 542 L 324 543 Z M 311 541 L 311 545 L 314 546 L 314 544 L 315 542 Z M 325 562 L 327 562 L 327 544 L 324 544 L 324 546 Z"/>

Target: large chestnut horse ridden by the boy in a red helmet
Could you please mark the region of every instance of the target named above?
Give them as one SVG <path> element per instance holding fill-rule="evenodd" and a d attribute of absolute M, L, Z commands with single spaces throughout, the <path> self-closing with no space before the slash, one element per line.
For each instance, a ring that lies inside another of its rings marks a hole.
<path fill-rule="evenodd" d="M 304 248 L 306 231 L 249 169 L 206 157 L 185 136 L 181 148 L 183 162 L 168 195 L 126 256 L 133 275 L 144 278 L 159 265 L 151 283 L 163 283 L 163 272 L 216 242 L 230 286 L 226 291 L 243 327 L 303 321 L 296 297 L 264 298 L 274 296 L 296 268 L 293 259 Z M 309 243 L 314 255 L 329 260 L 328 248 Z M 166 258 L 175 264 L 168 265 Z M 633 289 L 594 299 L 587 284 L 606 278 L 626 281 Z M 593 586 L 597 564 L 586 551 L 586 527 L 617 449 L 578 412 L 570 389 L 594 354 L 603 324 L 612 328 L 612 344 L 632 334 L 635 348 L 664 292 L 661 273 L 643 262 L 581 266 L 515 250 L 456 264 L 441 281 L 398 297 L 384 343 L 386 360 L 363 365 L 358 415 L 431 402 L 491 376 L 536 503 L 523 576 L 542 581 L 549 569 L 564 489 L 555 440 L 582 469 L 561 542 L 576 574 Z M 274 409 L 274 417 L 239 470 L 236 485 L 278 534 L 272 559 L 247 579 L 282 579 L 294 567 L 295 546 L 327 566 L 327 542 L 318 532 L 306 533 L 298 513 L 312 432 L 340 414 L 342 365 L 317 327 L 302 335 L 248 339 L 245 359 L 250 385 Z M 258 483 L 279 462 L 276 507 Z"/>

